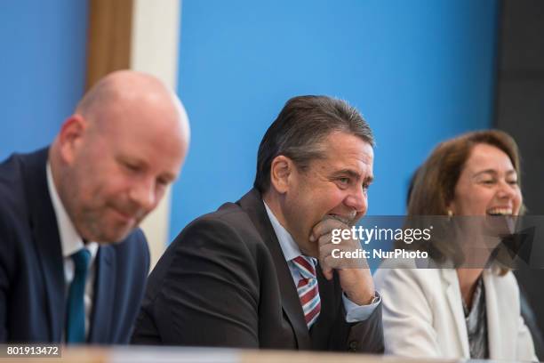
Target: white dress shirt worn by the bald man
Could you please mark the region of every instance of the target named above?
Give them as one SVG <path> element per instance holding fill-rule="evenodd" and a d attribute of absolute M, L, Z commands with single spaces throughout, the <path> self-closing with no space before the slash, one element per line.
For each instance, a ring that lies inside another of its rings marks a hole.
<path fill-rule="evenodd" d="M 68 296 L 68 289 L 74 280 L 74 261 L 70 257 L 82 248 L 86 248 L 91 253 L 89 262 L 89 270 L 87 273 L 87 281 L 85 282 L 84 306 L 85 306 L 85 338 L 89 336 L 89 327 L 91 327 L 91 312 L 92 298 L 94 296 L 94 275 L 96 270 L 96 254 L 99 245 L 96 242 L 88 242 L 84 244 L 83 238 L 79 236 L 74 227 L 74 224 L 68 217 L 66 209 L 60 201 L 59 194 L 52 179 L 51 165 L 48 162 L 47 166 L 47 187 L 51 196 L 52 206 L 57 217 L 57 226 L 59 227 L 60 247 L 62 257 L 64 258 L 64 281 L 65 281 L 65 298 Z M 62 339 L 66 336 L 64 329 L 62 330 Z"/>

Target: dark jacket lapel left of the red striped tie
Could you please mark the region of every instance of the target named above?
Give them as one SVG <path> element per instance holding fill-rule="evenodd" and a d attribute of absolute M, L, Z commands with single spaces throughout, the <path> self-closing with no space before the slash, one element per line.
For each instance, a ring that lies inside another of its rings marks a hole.
<path fill-rule="evenodd" d="M 282 308 L 292 325 L 299 349 L 310 349 L 311 343 L 308 327 L 306 326 L 304 313 L 300 306 L 299 294 L 292 283 L 291 271 L 287 266 L 287 262 L 285 262 L 284 253 L 279 245 L 274 228 L 268 219 L 260 192 L 254 189 L 250 190 L 238 201 L 238 204 L 249 215 L 272 255 L 276 266 L 276 276 L 280 293 L 282 294 Z"/>

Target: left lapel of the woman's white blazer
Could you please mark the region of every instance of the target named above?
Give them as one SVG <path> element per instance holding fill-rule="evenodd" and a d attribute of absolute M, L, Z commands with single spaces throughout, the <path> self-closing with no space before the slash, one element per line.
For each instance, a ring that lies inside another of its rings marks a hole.
<path fill-rule="evenodd" d="M 470 358 L 468 349 L 467 324 L 461 303 L 459 279 L 454 269 L 441 269 L 442 278 L 445 283 L 446 300 L 452 311 L 453 322 L 457 331 L 457 337 L 462 349 L 463 357 Z"/>

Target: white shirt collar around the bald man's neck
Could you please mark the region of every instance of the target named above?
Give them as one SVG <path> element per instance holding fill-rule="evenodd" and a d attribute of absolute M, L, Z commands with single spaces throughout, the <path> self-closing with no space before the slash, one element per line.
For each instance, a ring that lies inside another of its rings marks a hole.
<path fill-rule="evenodd" d="M 71 254 L 75 254 L 82 248 L 87 248 L 91 253 L 92 262 L 98 251 L 98 243 L 89 242 L 87 243 L 87 245 L 84 245 L 83 238 L 81 238 L 77 233 L 74 224 L 68 217 L 68 213 L 66 212 L 66 209 L 60 201 L 59 194 L 57 193 L 57 188 L 55 187 L 55 183 L 52 179 L 51 164 L 47 162 L 45 168 L 47 173 L 47 188 L 49 190 L 49 195 L 51 196 L 55 216 L 57 217 L 57 226 L 59 227 L 60 247 L 62 249 L 62 256 L 66 258 L 69 257 Z"/>

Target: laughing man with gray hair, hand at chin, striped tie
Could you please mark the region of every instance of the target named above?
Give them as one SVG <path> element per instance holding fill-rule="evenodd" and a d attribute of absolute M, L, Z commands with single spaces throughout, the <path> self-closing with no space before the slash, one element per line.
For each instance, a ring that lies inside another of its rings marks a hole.
<path fill-rule="evenodd" d="M 373 138 L 356 109 L 288 101 L 268 128 L 254 189 L 190 223 L 151 273 L 133 343 L 383 351 L 370 270 L 342 268 L 332 230 L 365 214 Z"/>

